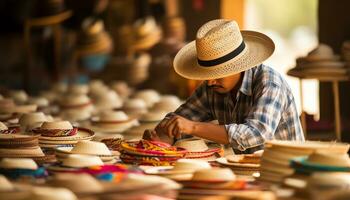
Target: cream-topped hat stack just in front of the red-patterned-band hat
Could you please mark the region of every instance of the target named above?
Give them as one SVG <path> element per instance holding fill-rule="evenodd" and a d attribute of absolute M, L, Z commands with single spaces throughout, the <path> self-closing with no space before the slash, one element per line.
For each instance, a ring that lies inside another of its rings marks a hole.
<path fill-rule="evenodd" d="M 57 147 L 57 160 L 62 160 L 68 155 L 82 154 L 98 156 L 104 163 L 115 163 L 119 152 L 111 152 L 102 142 L 79 141 L 74 147 Z"/>

